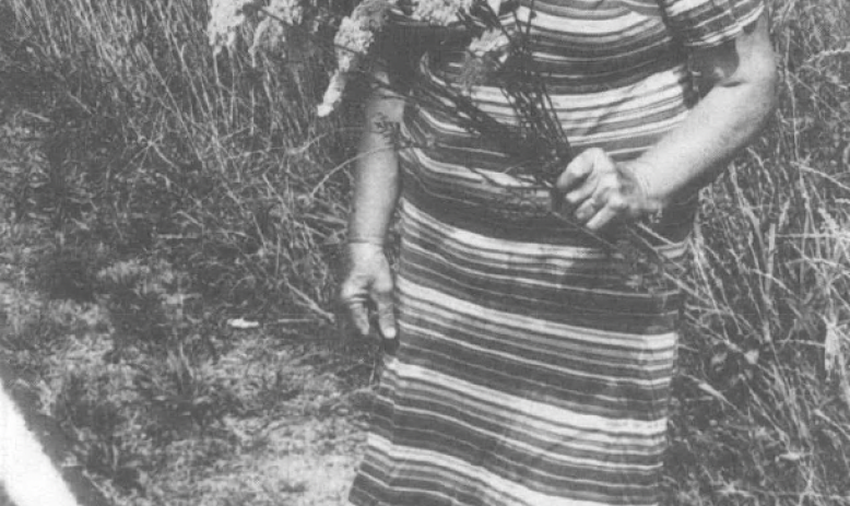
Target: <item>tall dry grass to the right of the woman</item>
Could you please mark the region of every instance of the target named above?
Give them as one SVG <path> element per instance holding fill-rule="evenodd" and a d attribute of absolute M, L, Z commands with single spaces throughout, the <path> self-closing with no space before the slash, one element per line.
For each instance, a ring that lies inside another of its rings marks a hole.
<path fill-rule="evenodd" d="M 770 8 L 780 107 L 695 236 L 673 504 L 850 504 L 850 4 Z"/>

